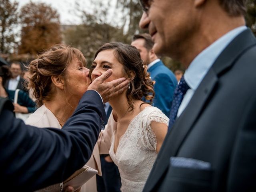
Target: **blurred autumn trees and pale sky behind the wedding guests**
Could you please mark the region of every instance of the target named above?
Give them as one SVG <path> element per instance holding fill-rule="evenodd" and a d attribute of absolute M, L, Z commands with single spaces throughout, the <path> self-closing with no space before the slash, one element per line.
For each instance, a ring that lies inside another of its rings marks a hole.
<path fill-rule="evenodd" d="M 256 0 L 246 3 L 246 24 L 256 34 Z M 139 32 L 142 9 L 138 0 L 1 0 L 0 57 L 24 65 L 53 44 L 82 51 L 88 67 L 104 42 L 131 43 Z M 184 70 L 162 58 L 172 71 Z"/>

